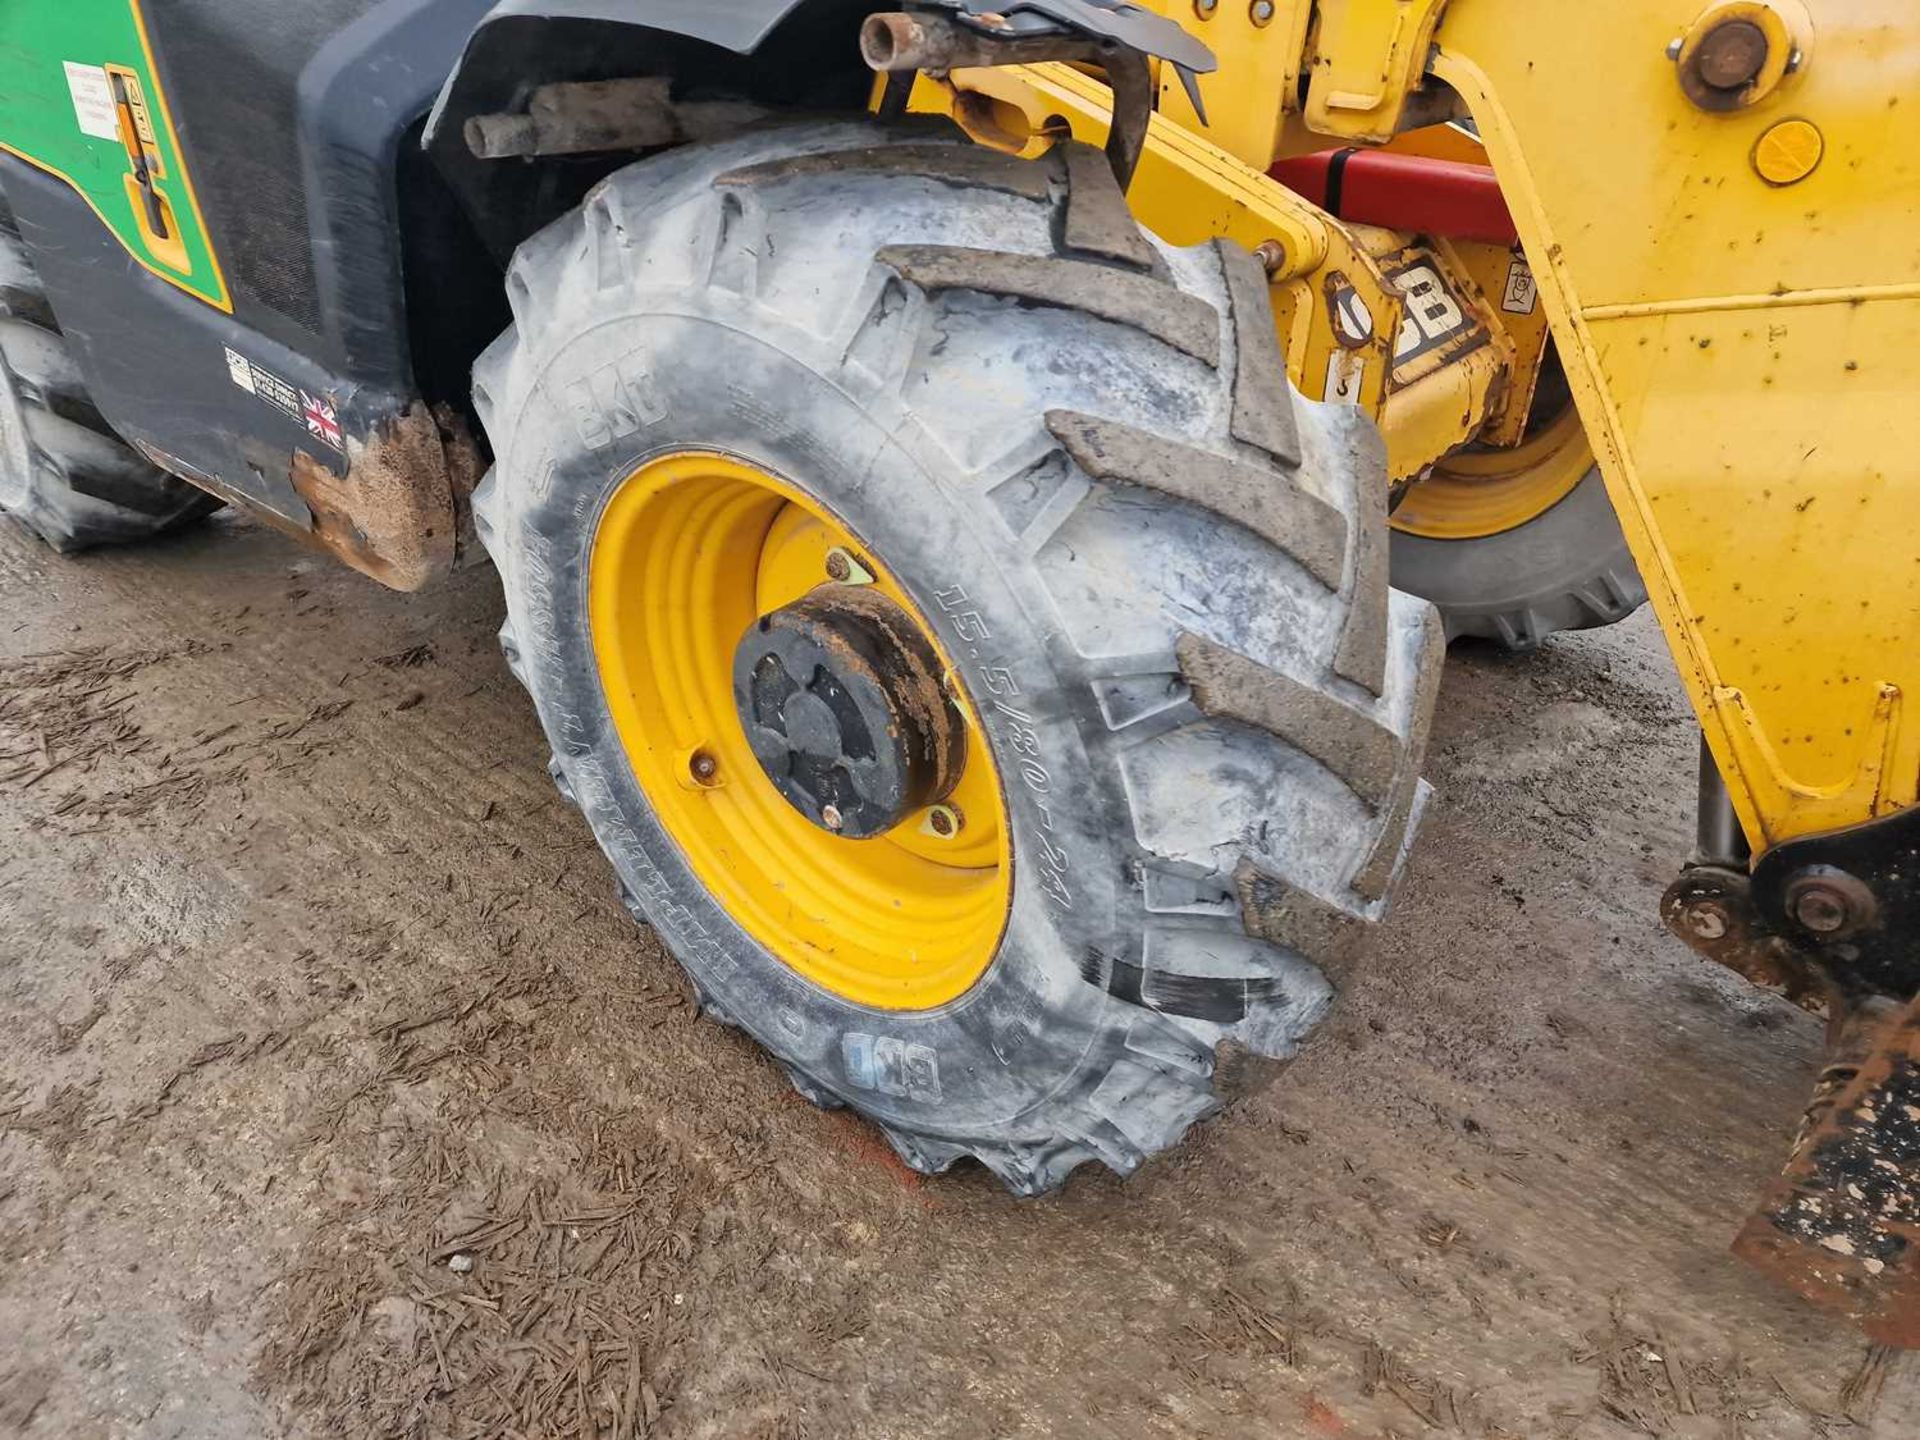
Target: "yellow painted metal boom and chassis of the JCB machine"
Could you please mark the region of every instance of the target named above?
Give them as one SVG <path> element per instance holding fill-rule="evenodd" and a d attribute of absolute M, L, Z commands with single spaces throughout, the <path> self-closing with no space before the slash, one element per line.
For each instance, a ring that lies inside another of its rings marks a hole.
<path fill-rule="evenodd" d="M 1409 246 L 1465 305 L 1473 255 L 1344 225 L 1267 177 L 1388 144 L 1457 102 L 1513 211 L 1588 444 L 1757 852 L 1920 789 L 1920 12 L 1910 0 L 1158 0 L 1219 58 L 1206 123 L 1165 69 L 1131 188 L 1173 244 L 1269 263 L 1294 382 L 1373 413 L 1396 480 L 1515 444 L 1538 338 L 1392 372 Z M 1265 15 L 1265 19 L 1261 19 Z M 1766 40 L 1736 92 L 1690 77 L 1713 27 Z M 1302 86 L 1300 77 L 1308 77 Z M 1450 94 L 1448 94 L 1450 92 Z M 922 79 L 914 106 L 1043 152 L 1102 140 L 1068 65 Z M 1590 157 L 1576 163 L 1578 157 Z M 1261 250 L 1265 246 L 1265 250 Z M 1357 296 L 1373 336 L 1338 332 Z M 1415 484 L 1417 493 L 1417 484 Z"/>

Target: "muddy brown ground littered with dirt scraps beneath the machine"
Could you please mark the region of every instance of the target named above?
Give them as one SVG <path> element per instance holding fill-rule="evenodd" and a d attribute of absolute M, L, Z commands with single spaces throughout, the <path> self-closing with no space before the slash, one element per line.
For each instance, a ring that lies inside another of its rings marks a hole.
<path fill-rule="evenodd" d="M 497 624 L 488 570 L 0 522 L 0 1434 L 1920 1432 L 1726 1254 L 1818 1035 L 1655 920 L 1693 730 L 1645 614 L 1457 653 L 1336 1018 L 1025 1204 L 693 1014 Z"/>

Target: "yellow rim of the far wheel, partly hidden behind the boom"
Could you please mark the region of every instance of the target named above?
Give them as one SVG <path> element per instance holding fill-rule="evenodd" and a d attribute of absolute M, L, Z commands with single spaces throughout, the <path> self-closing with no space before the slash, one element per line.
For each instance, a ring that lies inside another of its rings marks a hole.
<path fill-rule="evenodd" d="M 1448 455 L 1407 492 L 1394 530 L 1427 540 L 1498 536 L 1551 511 L 1590 468 L 1580 413 L 1567 405 L 1519 445 Z"/>

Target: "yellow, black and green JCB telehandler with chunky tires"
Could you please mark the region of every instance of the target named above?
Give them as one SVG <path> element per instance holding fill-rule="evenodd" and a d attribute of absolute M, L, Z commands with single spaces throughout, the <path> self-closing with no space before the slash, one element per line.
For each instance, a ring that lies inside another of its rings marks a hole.
<path fill-rule="evenodd" d="M 1736 1248 L 1920 1344 L 1910 0 L 0 4 L 0 507 L 507 662 L 705 1012 L 922 1171 L 1286 1056 L 1444 649 L 1651 597 L 1665 900 L 1822 1008 Z"/>

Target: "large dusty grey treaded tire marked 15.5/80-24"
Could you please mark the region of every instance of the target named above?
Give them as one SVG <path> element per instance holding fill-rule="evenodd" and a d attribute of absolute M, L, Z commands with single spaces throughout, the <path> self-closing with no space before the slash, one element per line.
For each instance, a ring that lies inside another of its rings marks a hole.
<path fill-rule="evenodd" d="M 1179 1140 L 1223 1046 L 1298 1046 L 1425 804 L 1444 637 L 1386 588 L 1380 442 L 1290 392 L 1258 261 L 1148 240 L 1085 146 L 835 123 L 611 177 L 509 296 L 474 371 L 503 647 L 710 1016 L 916 1169 L 973 1156 L 1020 1194 Z M 954 1000 L 854 1004 L 781 964 L 636 780 L 593 545 L 622 482 L 687 451 L 831 511 L 954 659 L 1014 837 Z"/>

